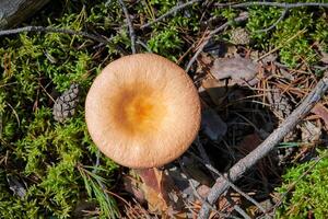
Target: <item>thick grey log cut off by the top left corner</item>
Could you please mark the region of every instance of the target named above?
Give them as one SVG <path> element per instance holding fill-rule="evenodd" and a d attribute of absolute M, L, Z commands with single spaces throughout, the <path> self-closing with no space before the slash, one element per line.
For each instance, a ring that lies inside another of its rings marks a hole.
<path fill-rule="evenodd" d="M 22 23 L 48 2 L 49 0 L 0 0 L 0 30 Z"/>

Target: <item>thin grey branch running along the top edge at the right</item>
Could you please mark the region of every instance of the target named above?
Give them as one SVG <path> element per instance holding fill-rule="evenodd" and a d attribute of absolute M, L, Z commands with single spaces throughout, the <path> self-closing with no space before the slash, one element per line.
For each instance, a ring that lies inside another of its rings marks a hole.
<path fill-rule="evenodd" d="M 293 9 L 300 7 L 328 7 L 328 3 L 320 2 L 298 2 L 298 3 L 280 3 L 280 2 L 267 2 L 267 1 L 250 1 L 244 3 L 216 3 L 215 7 L 231 7 L 231 8 L 247 8 L 255 5 L 265 5 L 265 7 L 279 7 L 285 9 Z"/>

